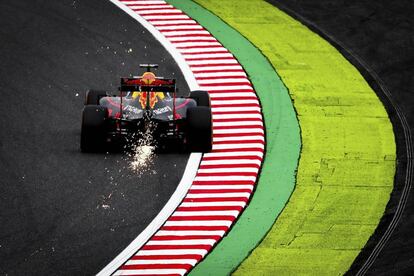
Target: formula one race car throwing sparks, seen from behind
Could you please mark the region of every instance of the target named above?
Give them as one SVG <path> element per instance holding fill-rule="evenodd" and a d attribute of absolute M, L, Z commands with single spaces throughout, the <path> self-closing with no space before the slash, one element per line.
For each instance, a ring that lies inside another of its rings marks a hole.
<path fill-rule="evenodd" d="M 130 143 L 150 129 L 149 143 L 159 149 L 174 148 L 208 152 L 212 148 L 210 97 L 192 91 L 176 97 L 175 79 L 156 77 L 151 68 L 142 76 L 121 78 L 118 95 L 89 90 L 82 115 L 81 150 L 105 151 L 109 144 Z M 177 147 L 176 145 L 179 145 Z"/>

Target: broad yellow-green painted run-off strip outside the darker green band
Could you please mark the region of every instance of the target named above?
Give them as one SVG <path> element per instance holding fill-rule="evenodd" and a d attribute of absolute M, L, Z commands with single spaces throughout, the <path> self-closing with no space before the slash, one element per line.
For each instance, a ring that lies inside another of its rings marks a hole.
<path fill-rule="evenodd" d="M 270 60 L 289 88 L 302 129 L 296 189 L 235 274 L 343 274 L 375 230 L 392 191 L 396 149 L 385 109 L 334 47 L 263 0 L 197 2 Z M 213 253 L 214 260 L 220 253 Z M 196 271 L 214 270 L 212 260 L 207 257 Z"/>

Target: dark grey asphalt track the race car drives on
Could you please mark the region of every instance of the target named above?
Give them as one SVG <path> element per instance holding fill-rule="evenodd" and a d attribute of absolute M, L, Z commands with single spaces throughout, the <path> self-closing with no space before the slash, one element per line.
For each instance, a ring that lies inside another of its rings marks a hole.
<path fill-rule="evenodd" d="M 158 214 L 188 155 L 140 174 L 125 154 L 81 153 L 85 90 L 114 91 L 143 62 L 188 87 L 109 1 L 2 1 L 0 41 L 0 274 L 95 274 Z"/>

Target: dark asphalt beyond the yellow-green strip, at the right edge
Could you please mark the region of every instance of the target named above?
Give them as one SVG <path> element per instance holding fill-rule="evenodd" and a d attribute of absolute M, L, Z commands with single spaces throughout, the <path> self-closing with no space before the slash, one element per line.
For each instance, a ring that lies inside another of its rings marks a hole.
<path fill-rule="evenodd" d="M 414 126 L 414 2 L 411 0 L 269 0 L 321 34 L 347 57 L 377 92 L 393 123 L 397 140 L 395 188 L 381 223 L 354 262 L 349 274 L 356 274 L 390 224 L 402 194 L 407 168 L 406 141 L 401 120 L 385 97 L 373 69 L 392 99 L 401 108 L 409 127 Z M 355 55 L 350 55 L 349 52 Z M 355 58 L 357 57 L 357 58 Z M 380 81 L 380 82 L 381 82 Z M 400 223 L 369 275 L 414 275 L 414 190 L 408 197 Z"/>

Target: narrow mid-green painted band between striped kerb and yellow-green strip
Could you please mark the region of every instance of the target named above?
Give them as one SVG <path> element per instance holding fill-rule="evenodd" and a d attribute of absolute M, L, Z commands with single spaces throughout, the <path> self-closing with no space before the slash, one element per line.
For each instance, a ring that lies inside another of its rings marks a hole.
<path fill-rule="evenodd" d="M 257 48 L 194 2 L 167 2 L 196 19 L 235 55 L 248 73 L 262 104 L 267 145 L 254 196 L 230 233 L 191 273 L 228 274 L 264 237 L 291 195 L 300 152 L 300 130 L 285 86 Z"/>

